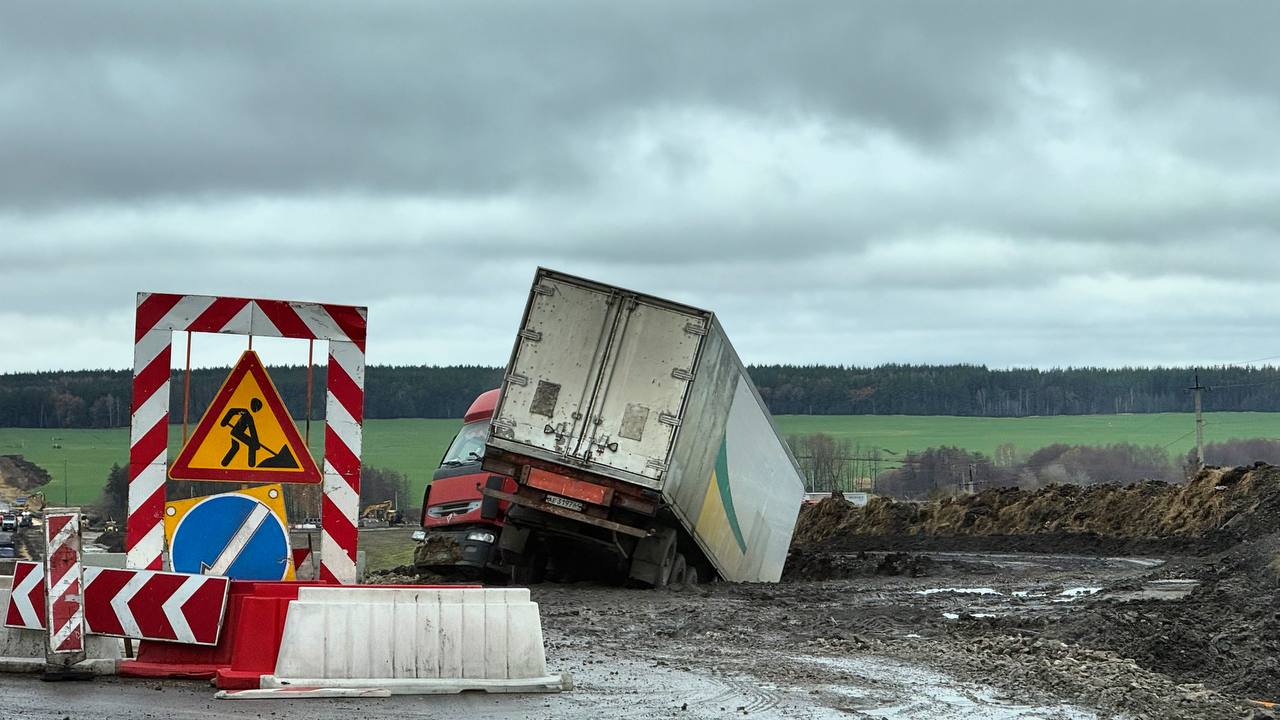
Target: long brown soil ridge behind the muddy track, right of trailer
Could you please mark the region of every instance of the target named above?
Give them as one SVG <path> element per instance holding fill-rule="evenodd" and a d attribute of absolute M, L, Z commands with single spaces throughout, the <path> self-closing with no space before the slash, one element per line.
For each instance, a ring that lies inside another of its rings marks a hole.
<path fill-rule="evenodd" d="M 1208 553 L 1280 530 L 1280 468 L 1207 468 L 1184 484 L 987 489 L 933 502 L 840 497 L 801 510 L 794 548 Z"/>

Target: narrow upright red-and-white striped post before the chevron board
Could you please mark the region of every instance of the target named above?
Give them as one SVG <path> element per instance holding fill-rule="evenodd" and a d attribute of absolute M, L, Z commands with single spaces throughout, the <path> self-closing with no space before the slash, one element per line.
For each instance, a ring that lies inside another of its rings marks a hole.
<path fill-rule="evenodd" d="M 49 652 L 84 652 L 79 512 L 45 512 Z"/>

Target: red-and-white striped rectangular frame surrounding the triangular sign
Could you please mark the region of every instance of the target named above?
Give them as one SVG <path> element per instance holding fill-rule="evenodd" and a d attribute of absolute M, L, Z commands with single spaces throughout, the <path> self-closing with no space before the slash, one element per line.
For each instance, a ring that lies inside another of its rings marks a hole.
<path fill-rule="evenodd" d="M 191 331 L 329 341 L 320 579 L 356 582 L 366 318 L 365 307 L 352 305 L 138 293 L 124 541 L 129 568 L 161 568 L 173 333 Z"/>

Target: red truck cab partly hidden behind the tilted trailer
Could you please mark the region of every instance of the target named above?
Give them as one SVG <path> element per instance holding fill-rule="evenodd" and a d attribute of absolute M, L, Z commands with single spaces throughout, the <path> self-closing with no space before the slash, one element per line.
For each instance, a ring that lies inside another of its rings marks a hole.
<path fill-rule="evenodd" d="M 413 565 L 438 573 L 483 574 L 500 571 L 497 550 L 509 503 L 486 498 L 480 488 L 515 492 L 516 482 L 480 468 L 489 420 L 498 405 L 498 391 L 480 393 L 462 416 L 453 437 L 422 493 L 422 529 Z"/>

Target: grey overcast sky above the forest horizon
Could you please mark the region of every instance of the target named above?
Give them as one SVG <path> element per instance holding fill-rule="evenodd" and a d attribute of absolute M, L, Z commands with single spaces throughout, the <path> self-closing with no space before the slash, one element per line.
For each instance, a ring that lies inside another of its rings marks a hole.
<path fill-rule="evenodd" d="M 4 3 L 0 372 L 131 366 L 142 290 L 367 305 L 370 363 L 500 365 L 538 265 L 716 310 L 748 363 L 1277 356 L 1277 28 L 1265 1 Z"/>

